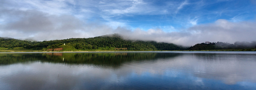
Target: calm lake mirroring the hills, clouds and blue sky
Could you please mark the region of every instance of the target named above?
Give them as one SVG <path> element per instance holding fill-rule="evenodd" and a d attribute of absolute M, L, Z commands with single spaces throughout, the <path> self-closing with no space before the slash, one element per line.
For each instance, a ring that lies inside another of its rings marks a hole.
<path fill-rule="evenodd" d="M 0 53 L 0 90 L 256 88 L 256 52 Z"/>

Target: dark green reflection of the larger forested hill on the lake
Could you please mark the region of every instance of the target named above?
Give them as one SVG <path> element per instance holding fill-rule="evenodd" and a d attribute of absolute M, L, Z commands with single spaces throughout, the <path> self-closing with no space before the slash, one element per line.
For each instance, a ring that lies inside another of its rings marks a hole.
<path fill-rule="evenodd" d="M 130 61 L 155 60 L 170 58 L 177 53 L 157 52 L 109 52 L 109 53 L 1 53 L 0 64 L 14 64 L 26 61 L 67 63 L 67 64 L 95 64 L 119 66 Z"/>

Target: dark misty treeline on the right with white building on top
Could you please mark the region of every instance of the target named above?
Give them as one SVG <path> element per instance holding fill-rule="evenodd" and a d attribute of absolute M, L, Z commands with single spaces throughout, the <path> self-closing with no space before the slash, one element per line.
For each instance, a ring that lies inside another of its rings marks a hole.
<path fill-rule="evenodd" d="M 244 51 L 255 51 L 256 41 L 252 42 L 235 42 L 234 44 L 225 42 L 205 42 L 201 44 L 195 44 L 188 48 L 188 50 L 238 50 L 244 49 Z"/>

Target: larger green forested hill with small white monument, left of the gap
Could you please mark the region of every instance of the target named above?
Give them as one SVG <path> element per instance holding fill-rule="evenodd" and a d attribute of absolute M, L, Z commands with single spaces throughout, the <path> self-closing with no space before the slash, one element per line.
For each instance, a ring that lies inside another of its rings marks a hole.
<path fill-rule="evenodd" d="M 65 43 L 65 45 L 64 45 Z M 64 40 L 30 42 L 13 38 L 1 38 L 0 47 L 13 49 L 37 49 L 47 50 L 63 47 L 64 51 L 77 50 L 186 50 L 182 46 L 169 43 L 157 43 L 155 41 L 131 41 L 124 40 L 118 34 L 104 35 L 94 38 L 70 38 Z"/>

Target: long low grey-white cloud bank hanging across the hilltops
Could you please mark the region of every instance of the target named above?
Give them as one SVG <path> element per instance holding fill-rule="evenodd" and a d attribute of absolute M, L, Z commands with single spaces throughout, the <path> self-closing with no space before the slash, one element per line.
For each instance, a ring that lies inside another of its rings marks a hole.
<path fill-rule="evenodd" d="M 0 24 L 1 37 L 33 38 L 37 41 L 90 38 L 119 33 L 126 39 L 157 41 L 192 46 L 204 41 L 229 42 L 255 41 L 255 22 L 229 22 L 218 19 L 214 23 L 195 25 L 178 32 L 164 32 L 162 29 L 142 30 L 127 27 L 113 28 L 101 22 L 83 22 L 70 15 L 50 15 L 37 10 L 2 10 L 2 16 L 19 13 L 9 18 L 14 21 Z"/>

